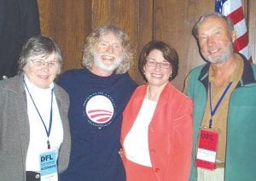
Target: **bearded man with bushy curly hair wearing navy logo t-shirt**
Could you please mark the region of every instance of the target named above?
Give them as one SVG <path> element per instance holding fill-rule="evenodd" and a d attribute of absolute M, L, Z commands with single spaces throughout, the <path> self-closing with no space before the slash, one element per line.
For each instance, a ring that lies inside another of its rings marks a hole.
<path fill-rule="evenodd" d="M 71 161 L 61 180 L 122 181 L 119 156 L 122 113 L 137 84 L 127 71 L 133 54 L 118 26 L 91 32 L 84 44 L 83 69 L 60 76 L 70 96 Z"/>

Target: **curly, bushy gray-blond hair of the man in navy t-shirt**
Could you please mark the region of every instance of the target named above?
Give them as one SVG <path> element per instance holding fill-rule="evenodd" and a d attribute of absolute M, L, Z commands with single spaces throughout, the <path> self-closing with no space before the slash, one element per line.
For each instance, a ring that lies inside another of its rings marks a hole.
<path fill-rule="evenodd" d="M 112 32 L 115 37 L 120 40 L 120 43 L 123 47 L 123 60 L 119 67 L 114 71 L 116 74 L 122 74 L 131 68 L 133 62 L 133 52 L 129 38 L 125 31 L 116 25 L 105 25 L 99 28 L 96 28 L 95 31 L 91 32 L 90 35 L 86 38 L 84 43 L 84 52 L 82 65 L 84 68 L 91 69 L 94 63 L 94 51 L 97 43 L 100 41 L 101 37 L 107 35 L 109 32 Z"/>

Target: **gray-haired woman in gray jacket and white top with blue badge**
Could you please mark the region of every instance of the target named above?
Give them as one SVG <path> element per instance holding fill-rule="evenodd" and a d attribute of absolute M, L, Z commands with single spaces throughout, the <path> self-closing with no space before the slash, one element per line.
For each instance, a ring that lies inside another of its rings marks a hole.
<path fill-rule="evenodd" d="M 0 179 L 57 181 L 67 169 L 67 93 L 54 83 L 61 50 L 49 37 L 22 47 L 19 75 L 0 81 Z"/>

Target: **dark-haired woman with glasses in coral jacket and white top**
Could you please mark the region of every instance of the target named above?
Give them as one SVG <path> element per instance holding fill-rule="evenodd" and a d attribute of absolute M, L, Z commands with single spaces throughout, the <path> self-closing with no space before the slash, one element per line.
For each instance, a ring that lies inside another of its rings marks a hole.
<path fill-rule="evenodd" d="M 127 181 L 185 181 L 192 148 L 192 101 L 172 86 L 178 56 L 165 42 L 148 42 L 139 58 L 147 83 L 124 111 L 120 155 Z"/>

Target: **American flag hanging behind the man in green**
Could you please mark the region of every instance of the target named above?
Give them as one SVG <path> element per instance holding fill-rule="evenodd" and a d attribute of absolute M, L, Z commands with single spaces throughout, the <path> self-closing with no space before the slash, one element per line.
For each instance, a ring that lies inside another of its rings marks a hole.
<path fill-rule="evenodd" d="M 250 54 L 247 24 L 243 14 L 241 0 L 215 0 L 215 12 L 228 16 L 236 30 L 235 50 L 244 54 L 252 63 Z"/>

